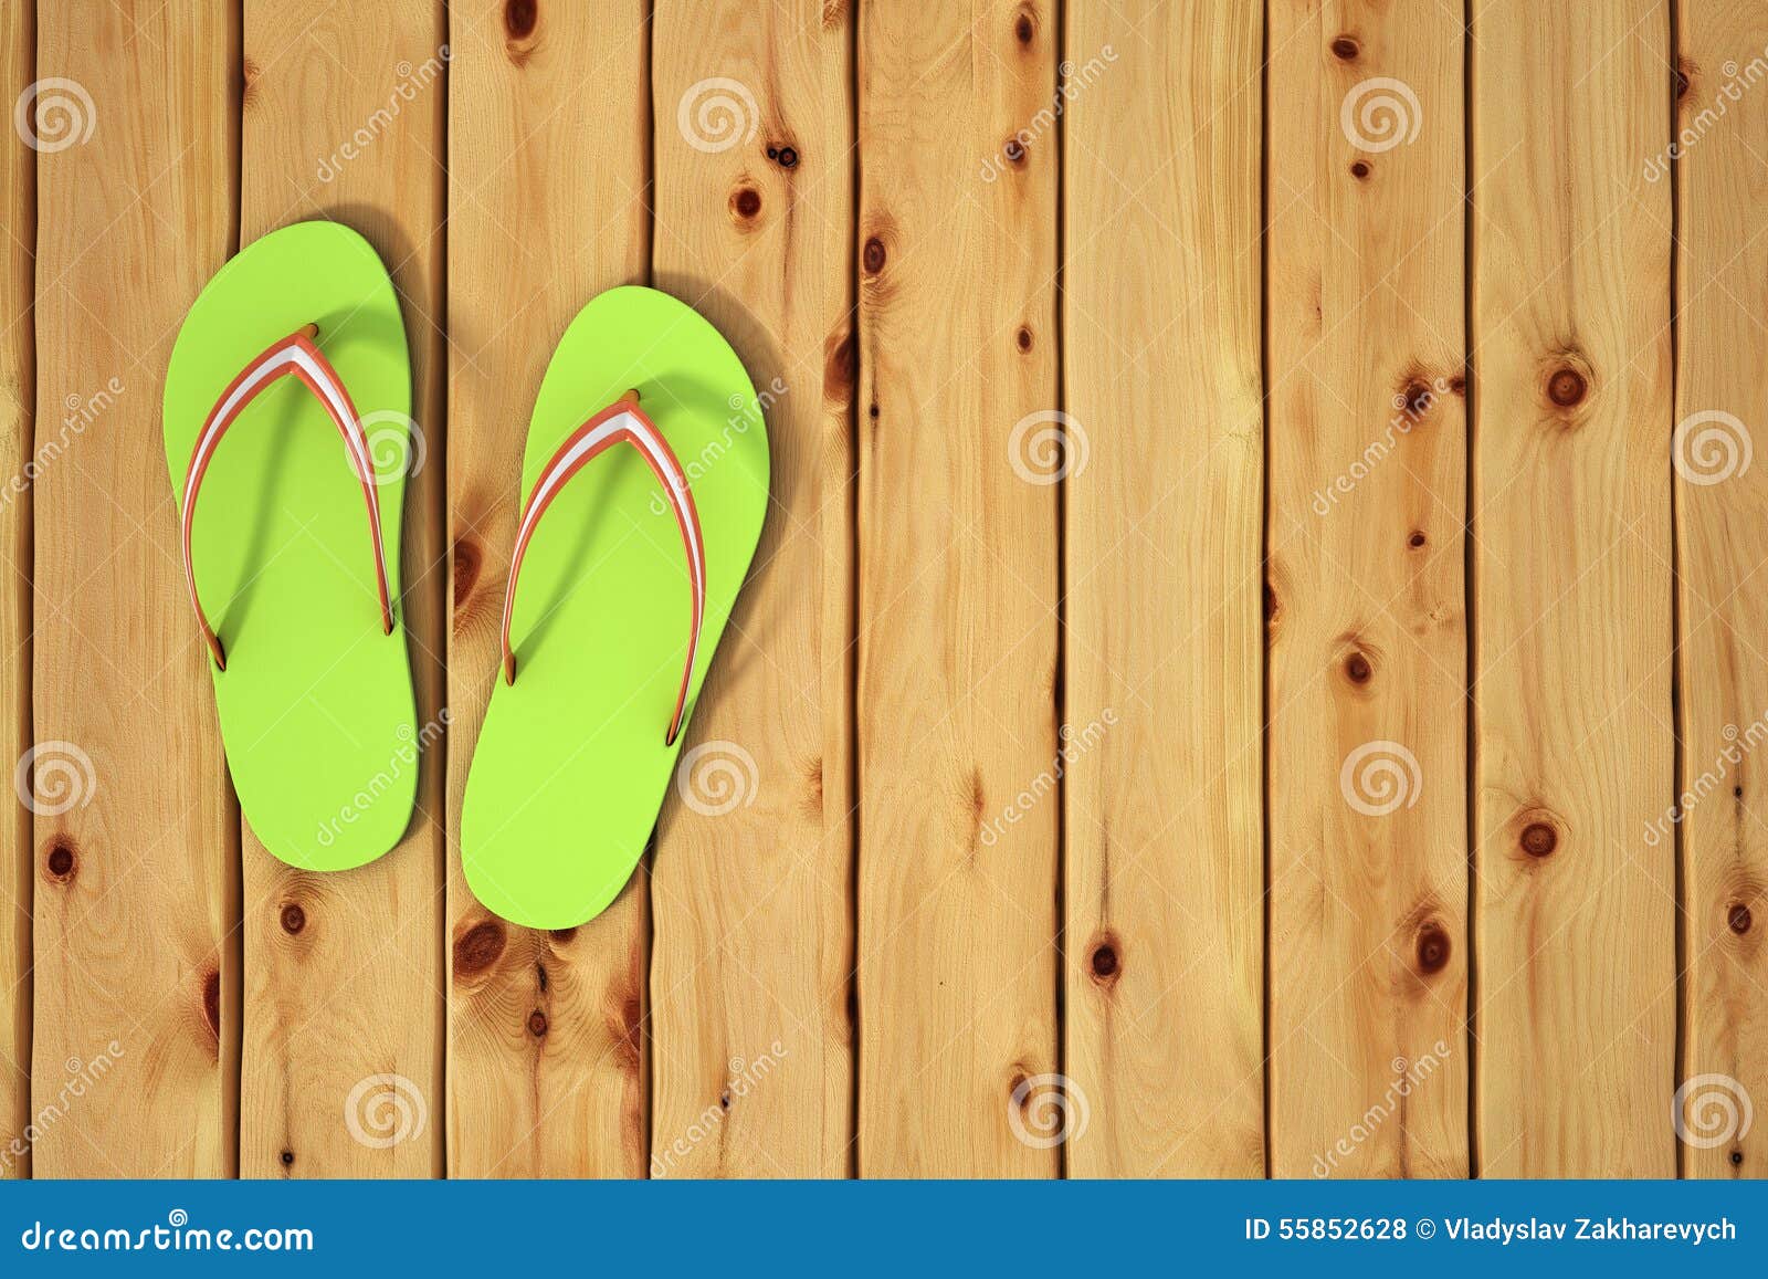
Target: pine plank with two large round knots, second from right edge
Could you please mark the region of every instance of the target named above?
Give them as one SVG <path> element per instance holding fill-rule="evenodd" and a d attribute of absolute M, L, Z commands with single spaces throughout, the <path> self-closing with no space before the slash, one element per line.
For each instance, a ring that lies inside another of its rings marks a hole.
<path fill-rule="evenodd" d="M 1490 0 L 1471 39 L 1478 1164 L 1669 1176 L 1669 25 Z"/>

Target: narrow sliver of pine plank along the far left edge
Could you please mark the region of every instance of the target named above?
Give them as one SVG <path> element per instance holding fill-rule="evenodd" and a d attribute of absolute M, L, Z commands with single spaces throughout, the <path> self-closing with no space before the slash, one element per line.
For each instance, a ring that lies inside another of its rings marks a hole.
<path fill-rule="evenodd" d="M 0 7 L 0 103 L 16 103 L 37 65 L 32 5 Z M 0 138 L 0 755 L 30 748 L 30 490 L 37 244 L 35 152 Z M 30 1175 L 30 810 L 12 808 L 0 842 L 0 1176 Z"/>

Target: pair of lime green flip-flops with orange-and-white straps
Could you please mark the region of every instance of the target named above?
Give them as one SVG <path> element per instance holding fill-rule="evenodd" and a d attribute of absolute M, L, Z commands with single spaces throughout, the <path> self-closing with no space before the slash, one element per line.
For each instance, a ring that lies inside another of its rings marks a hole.
<path fill-rule="evenodd" d="M 442 727 L 419 729 L 412 697 L 400 524 L 424 437 L 375 249 L 325 221 L 242 249 L 184 320 L 164 428 L 240 808 L 292 867 L 371 862 Z M 767 433 L 743 363 L 667 294 L 601 294 L 541 382 L 522 492 L 460 849 L 486 908 L 562 929 L 644 854 L 760 538 Z"/>

